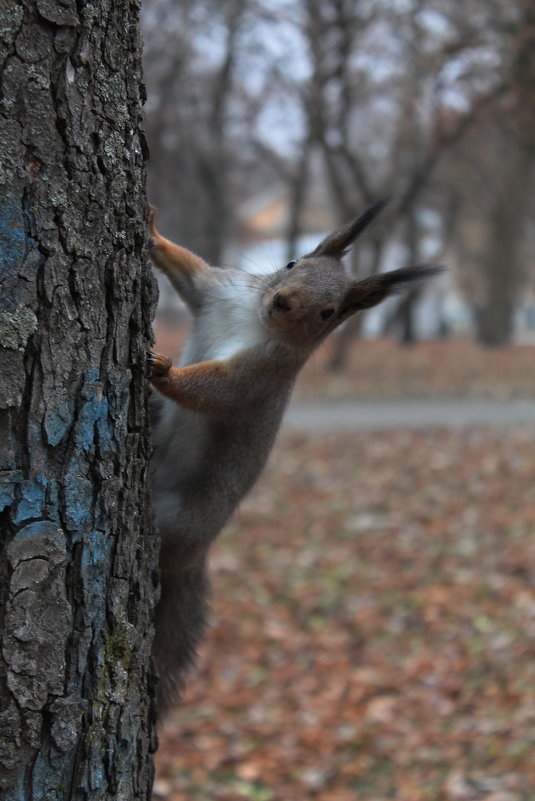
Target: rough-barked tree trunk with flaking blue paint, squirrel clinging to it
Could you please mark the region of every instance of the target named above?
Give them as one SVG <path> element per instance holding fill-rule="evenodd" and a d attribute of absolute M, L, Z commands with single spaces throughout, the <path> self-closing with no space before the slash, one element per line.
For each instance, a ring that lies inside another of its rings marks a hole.
<path fill-rule="evenodd" d="M 136 0 L 0 7 L 0 795 L 150 798 Z"/>

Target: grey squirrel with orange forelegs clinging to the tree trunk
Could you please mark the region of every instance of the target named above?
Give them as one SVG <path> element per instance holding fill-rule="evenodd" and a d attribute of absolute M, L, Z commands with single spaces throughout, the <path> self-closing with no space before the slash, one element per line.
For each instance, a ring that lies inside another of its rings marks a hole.
<path fill-rule="evenodd" d="M 179 367 L 147 353 L 157 390 L 151 489 L 161 536 L 153 644 L 160 713 L 180 695 L 206 628 L 209 546 L 262 471 L 299 370 L 351 315 L 443 269 L 348 274 L 342 257 L 386 202 L 271 275 L 210 267 L 161 236 L 150 207 L 151 260 L 193 315 Z"/>

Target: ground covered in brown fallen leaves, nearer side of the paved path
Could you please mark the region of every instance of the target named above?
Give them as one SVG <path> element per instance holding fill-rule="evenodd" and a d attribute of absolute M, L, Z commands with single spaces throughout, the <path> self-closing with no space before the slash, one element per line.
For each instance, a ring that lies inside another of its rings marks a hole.
<path fill-rule="evenodd" d="M 535 429 L 282 434 L 159 797 L 535 799 L 534 530 Z"/>

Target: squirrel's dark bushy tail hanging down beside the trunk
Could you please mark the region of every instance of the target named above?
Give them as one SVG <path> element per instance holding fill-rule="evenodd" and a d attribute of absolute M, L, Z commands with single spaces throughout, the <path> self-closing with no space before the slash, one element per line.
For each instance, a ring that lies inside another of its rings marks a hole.
<path fill-rule="evenodd" d="M 189 669 L 197 656 L 208 617 L 210 585 L 206 560 L 187 569 L 167 573 L 164 562 L 160 578 L 160 600 L 156 607 L 156 633 L 152 653 L 160 674 L 158 713 L 176 702 Z"/>

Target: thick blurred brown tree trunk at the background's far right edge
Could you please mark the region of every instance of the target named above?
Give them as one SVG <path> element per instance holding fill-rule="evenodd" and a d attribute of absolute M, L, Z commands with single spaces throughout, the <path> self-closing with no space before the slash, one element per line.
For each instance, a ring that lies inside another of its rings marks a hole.
<path fill-rule="evenodd" d="M 463 149 L 466 187 L 461 258 L 480 342 L 511 341 L 514 313 L 529 277 L 523 261 L 533 213 L 535 166 L 535 3 L 518 0 L 492 24 L 502 43 L 506 91 Z"/>

